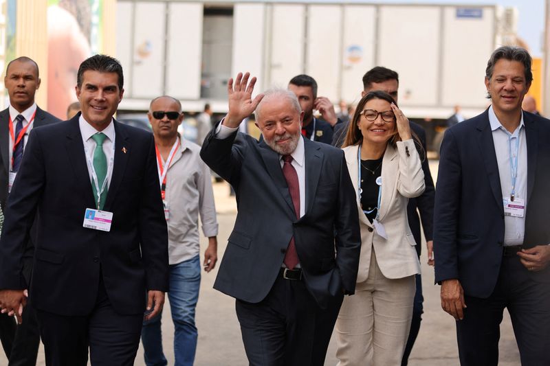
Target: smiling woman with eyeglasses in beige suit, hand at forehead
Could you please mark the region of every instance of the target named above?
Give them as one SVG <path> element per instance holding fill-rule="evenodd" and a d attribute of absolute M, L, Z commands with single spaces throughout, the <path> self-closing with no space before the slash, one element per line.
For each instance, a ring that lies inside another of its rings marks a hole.
<path fill-rule="evenodd" d="M 361 257 L 355 295 L 338 321 L 338 365 L 401 365 L 420 264 L 407 222 L 408 198 L 424 174 L 408 119 L 384 91 L 359 102 L 344 141 L 357 193 Z"/>

